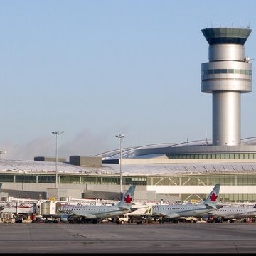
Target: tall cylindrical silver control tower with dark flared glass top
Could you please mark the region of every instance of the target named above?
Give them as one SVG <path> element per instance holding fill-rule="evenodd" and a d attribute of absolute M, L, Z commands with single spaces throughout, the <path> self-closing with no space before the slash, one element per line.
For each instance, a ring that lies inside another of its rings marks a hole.
<path fill-rule="evenodd" d="M 252 64 L 245 57 L 249 28 L 205 28 L 208 63 L 201 64 L 201 92 L 212 93 L 213 146 L 240 145 L 240 95 L 252 92 Z"/>

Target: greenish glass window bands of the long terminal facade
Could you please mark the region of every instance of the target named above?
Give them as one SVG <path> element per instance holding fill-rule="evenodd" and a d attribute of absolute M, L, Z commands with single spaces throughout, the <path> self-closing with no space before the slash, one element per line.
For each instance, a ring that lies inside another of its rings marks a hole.
<path fill-rule="evenodd" d="M 0 174 L 0 183 L 55 183 L 53 174 Z M 115 175 L 71 175 L 59 174 L 60 184 L 98 184 L 119 185 L 120 176 Z M 222 186 L 256 186 L 256 173 L 229 172 L 225 174 L 175 174 L 159 176 L 122 176 L 124 185 L 139 186 L 211 186 L 220 183 Z M 171 196 L 171 195 L 170 195 Z M 177 196 L 177 195 L 176 195 Z M 181 200 L 198 200 L 206 195 L 178 195 Z M 256 201 L 256 194 L 221 194 L 223 201 Z"/>

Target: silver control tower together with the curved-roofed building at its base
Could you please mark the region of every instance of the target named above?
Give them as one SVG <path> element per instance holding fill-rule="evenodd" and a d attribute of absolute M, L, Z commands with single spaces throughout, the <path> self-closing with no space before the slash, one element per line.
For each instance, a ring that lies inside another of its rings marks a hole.
<path fill-rule="evenodd" d="M 252 30 L 205 28 L 201 31 L 209 44 L 209 61 L 201 63 L 201 92 L 213 95 L 212 139 L 138 147 L 123 157 L 256 160 L 256 137 L 241 139 L 240 132 L 241 94 L 252 92 L 252 64 L 245 57 L 244 46 Z"/>

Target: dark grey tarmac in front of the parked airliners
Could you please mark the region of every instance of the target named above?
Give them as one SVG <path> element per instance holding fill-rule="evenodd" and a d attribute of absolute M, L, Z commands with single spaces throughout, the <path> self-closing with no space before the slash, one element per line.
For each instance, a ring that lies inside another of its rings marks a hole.
<path fill-rule="evenodd" d="M 256 223 L 0 224 L 0 253 L 255 253 Z"/>

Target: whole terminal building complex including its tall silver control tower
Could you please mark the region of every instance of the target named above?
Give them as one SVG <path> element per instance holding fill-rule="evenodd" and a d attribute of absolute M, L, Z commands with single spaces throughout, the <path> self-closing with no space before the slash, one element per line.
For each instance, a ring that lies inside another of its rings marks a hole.
<path fill-rule="evenodd" d="M 221 201 L 256 201 L 256 137 L 240 137 L 241 95 L 252 92 L 252 63 L 244 46 L 251 29 L 202 33 L 209 61 L 201 64 L 201 92 L 212 94 L 212 139 L 70 156 L 58 165 L 43 156 L 0 160 L 1 196 L 114 199 L 122 181 L 122 191 L 137 185 L 136 200 L 200 201 L 220 183 Z"/>

